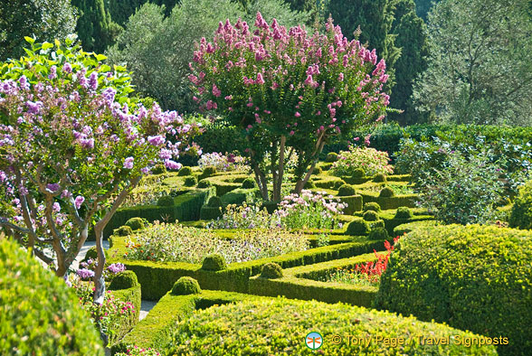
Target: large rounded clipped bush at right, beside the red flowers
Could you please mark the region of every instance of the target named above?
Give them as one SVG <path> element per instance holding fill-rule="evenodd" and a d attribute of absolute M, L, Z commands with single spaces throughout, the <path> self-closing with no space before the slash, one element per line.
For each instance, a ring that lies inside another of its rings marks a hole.
<path fill-rule="evenodd" d="M 419 227 L 399 240 L 376 304 L 422 320 L 507 338 L 501 355 L 532 354 L 532 232 Z"/>

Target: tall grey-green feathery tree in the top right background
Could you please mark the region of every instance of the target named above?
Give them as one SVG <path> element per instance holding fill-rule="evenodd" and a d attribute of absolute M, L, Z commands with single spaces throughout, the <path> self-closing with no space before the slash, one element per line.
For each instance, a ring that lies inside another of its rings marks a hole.
<path fill-rule="evenodd" d="M 429 14 L 422 112 L 464 124 L 530 124 L 532 17 L 527 0 L 445 0 Z"/>

